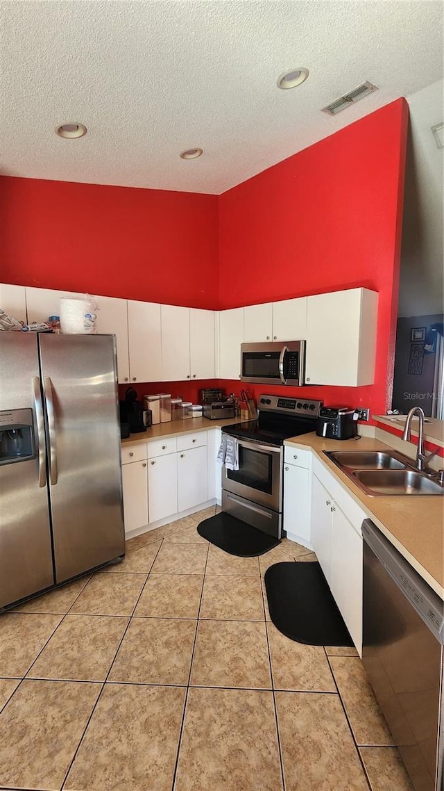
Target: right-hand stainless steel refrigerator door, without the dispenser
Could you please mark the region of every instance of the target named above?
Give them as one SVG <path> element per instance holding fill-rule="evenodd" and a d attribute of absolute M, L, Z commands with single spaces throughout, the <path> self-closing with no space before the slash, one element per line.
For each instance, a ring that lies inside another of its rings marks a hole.
<path fill-rule="evenodd" d="M 125 551 L 113 335 L 40 334 L 55 579 Z"/>

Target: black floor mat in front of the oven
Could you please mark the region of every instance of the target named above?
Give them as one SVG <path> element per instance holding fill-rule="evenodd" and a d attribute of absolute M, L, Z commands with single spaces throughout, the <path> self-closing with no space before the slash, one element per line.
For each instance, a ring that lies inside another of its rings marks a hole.
<path fill-rule="evenodd" d="M 255 558 L 280 543 L 280 539 L 224 512 L 216 513 L 215 517 L 198 524 L 198 534 L 224 552 L 238 555 L 239 558 Z"/>

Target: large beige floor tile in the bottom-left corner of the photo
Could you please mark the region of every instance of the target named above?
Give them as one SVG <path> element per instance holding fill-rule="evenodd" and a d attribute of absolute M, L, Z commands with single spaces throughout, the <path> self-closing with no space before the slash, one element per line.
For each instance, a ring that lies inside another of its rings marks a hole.
<path fill-rule="evenodd" d="M 0 715 L 0 784 L 59 789 L 101 684 L 25 680 Z"/>

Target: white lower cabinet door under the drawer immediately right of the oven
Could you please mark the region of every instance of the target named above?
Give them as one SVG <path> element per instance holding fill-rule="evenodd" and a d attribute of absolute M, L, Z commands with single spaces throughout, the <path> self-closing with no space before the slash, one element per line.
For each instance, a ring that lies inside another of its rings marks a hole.
<path fill-rule="evenodd" d="M 310 471 L 284 464 L 284 530 L 303 547 L 313 549 L 310 537 Z"/>

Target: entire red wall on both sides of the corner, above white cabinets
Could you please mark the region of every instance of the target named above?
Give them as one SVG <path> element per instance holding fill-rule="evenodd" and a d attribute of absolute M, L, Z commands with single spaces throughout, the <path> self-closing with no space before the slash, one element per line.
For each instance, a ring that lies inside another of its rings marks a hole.
<path fill-rule="evenodd" d="M 375 384 L 285 392 L 386 411 L 407 115 L 399 99 L 220 196 L 0 176 L 0 280 L 197 308 L 373 288 Z"/>

